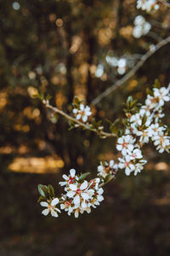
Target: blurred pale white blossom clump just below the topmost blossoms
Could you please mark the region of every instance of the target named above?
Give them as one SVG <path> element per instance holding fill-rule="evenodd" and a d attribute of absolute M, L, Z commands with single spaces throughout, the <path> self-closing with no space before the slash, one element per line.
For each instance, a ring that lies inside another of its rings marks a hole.
<path fill-rule="evenodd" d="M 142 15 L 136 16 L 133 27 L 133 37 L 140 38 L 142 35 L 146 35 L 150 31 L 151 25 L 144 19 Z"/>

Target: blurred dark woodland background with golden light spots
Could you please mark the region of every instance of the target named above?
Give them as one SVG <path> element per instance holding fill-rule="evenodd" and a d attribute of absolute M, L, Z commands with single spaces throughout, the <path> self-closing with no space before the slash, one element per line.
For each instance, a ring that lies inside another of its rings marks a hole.
<path fill-rule="evenodd" d="M 105 186 L 105 201 L 80 218 L 43 217 L 37 184 L 54 185 L 70 167 L 95 176 L 99 160 L 116 159 L 115 139 L 68 131 L 34 98 L 38 90 L 66 112 L 77 95 L 88 105 L 141 56 L 170 35 L 170 10 L 152 15 L 134 0 L 0 0 L 0 255 L 151 255 L 170 251 L 170 158 L 152 145 L 149 163 L 137 177 L 117 173 Z M 133 37 L 133 20 L 143 15 L 151 29 Z M 92 106 L 96 119 L 122 117 L 133 95 L 159 79 L 170 82 L 170 45 L 144 63 L 118 90 Z M 164 122 L 170 124 L 170 105 Z M 104 123 L 105 124 L 105 123 Z M 107 128 L 107 125 L 106 125 Z"/>

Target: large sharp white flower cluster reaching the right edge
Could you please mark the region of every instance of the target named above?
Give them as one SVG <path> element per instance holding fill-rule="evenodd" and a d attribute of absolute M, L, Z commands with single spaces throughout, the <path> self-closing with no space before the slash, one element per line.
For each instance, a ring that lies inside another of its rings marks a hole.
<path fill-rule="evenodd" d="M 125 169 L 126 175 L 131 172 L 136 175 L 144 168 L 146 160 L 143 159 L 141 151 L 144 143 L 153 142 L 159 153 L 170 152 L 167 126 L 161 124 L 161 118 L 164 116 L 162 107 L 165 102 L 170 101 L 169 89 L 154 88 L 150 94 L 138 112 L 127 114 L 125 135 L 117 140 L 116 149 L 122 152 L 118 166 Z"/>

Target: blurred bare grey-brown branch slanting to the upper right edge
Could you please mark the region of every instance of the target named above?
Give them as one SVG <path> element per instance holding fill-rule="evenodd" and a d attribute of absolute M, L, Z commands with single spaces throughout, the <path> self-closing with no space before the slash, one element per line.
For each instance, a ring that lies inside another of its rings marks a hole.
<path fill-rule="evenodd" d="M 127 82 L 128 79 L 132 78 L 133 75 L 139 70 L 140 67 L 144 65 L 144 62 L 147 61 L 151 55 L 153 55 L 158 49 L 161 49 L 166 44 L 170 43 L 170 36 L 161 40 L 158 44 L 155 45 L 154 50 L 148 50 L 140 59 L 140 61 L 137 63 L 136 66 L 134 66 L 126 75 L 122 77 L 122 79 L 118 79 L 115 84 L 112 84 L 111 87 L 104 90 L 99 96 L 94 98 L 94 100 L 91 102 L 92 105 L 96 105 L 99 103 L 103 98 L 111 94 L 114 90 L 116 90 L 118 87 L 120 87 L 122 84 Z"/>

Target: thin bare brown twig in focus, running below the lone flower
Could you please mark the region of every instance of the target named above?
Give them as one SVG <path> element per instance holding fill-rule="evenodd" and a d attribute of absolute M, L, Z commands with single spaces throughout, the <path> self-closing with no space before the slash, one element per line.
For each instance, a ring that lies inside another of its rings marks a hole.
<path fill-rule="evenodd" d="M 43 100 L 42 103 L 46 106 L 46 108 L 49 108 L 49 109 L 53 110 L 54 113 L 59 113 L 60 115 L 64 116 L 65 119 L 71 120 L 71 122 L 81 126 L 82 128 L 84 128 L 86 130 L 94 131 L 95 133 L 97 133 L 99 136 L 101 136 L 103 138 L 105 138 L 105 137 L 116 137 L 116 133 L 109 133 L 109 132 L 99 131 L 97 129 L 91 128 L 90 125 L 84 124 L 81 121 L 71 117 L 69 114 L 65 113 L 64 111 L 60 110 L 59 108 L 55 108 L 55 107 L 51 106 L 48 103 L 48 101 L 46 101 L 46 100 Z"/>

